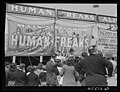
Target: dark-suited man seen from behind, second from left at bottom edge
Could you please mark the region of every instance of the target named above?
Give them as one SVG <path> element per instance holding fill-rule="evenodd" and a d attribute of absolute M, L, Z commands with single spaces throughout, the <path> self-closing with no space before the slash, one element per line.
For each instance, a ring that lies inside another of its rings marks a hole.
<path fill-rule="evenodd" d="M 25 65 L 20 64 L 18 69 L 15 71 L 15 86 L 25 86 L 26 74 L 24 72 Z"/>

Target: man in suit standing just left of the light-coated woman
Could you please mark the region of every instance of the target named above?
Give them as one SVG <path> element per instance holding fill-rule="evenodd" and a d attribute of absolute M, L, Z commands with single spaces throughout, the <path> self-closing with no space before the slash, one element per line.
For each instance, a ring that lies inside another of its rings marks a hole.
<path fill-rule="evenodd" d="M 58 86 L 58 80 L 57 75 L 59 75 L 59 71 L 57 69 L 57 63 L 56 63 L 56 54 L 53 54 L 51 56 L 50 61 L 46 64 L 46 83 L 48 86 Z"/>

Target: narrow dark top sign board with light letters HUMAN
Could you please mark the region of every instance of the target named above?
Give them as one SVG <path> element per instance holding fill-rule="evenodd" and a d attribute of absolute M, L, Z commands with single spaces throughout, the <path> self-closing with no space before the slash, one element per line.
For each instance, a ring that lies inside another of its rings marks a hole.
<path fill-rule="evenodd" d="M 35 7 L 21 4 L 7 4 L 7 13 L 26 14 L 43 17 L 55 17 L 55 9 Z"/>

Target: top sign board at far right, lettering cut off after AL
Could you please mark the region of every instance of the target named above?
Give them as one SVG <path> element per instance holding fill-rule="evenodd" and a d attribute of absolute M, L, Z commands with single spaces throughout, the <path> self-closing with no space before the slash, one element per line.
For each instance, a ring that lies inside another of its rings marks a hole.
<path fill-rule="evenodd" d="M 99 23 L 117 24 L 117 18 L 111 16 L 98 15 Z"/>

